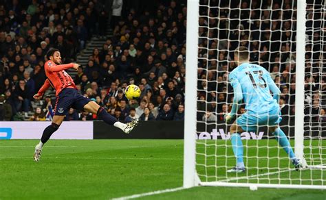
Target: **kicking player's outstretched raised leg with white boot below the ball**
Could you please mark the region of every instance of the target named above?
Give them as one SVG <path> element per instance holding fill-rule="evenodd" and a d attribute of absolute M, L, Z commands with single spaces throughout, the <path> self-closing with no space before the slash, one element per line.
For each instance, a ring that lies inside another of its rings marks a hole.
<path fill-rule="evenodd" d="M 122 131 L 126 134 L 129 134 L 133 130 L 133 128 L 138 125 L 138 121 L 131 121 L 127 124 L 117 121 L 116 118 L 111 116 L 111 114 L 107 113 L 104 108 L 100 107 L 100 105 L 98 105 L 94 101 L 89 101 L 89 103 L 84 106 L 84 110 L 97 114 L 99 118 L 102 119 L 102 121 L 109 125 L 118 127 L 119 129 L 122 129 Z"/>

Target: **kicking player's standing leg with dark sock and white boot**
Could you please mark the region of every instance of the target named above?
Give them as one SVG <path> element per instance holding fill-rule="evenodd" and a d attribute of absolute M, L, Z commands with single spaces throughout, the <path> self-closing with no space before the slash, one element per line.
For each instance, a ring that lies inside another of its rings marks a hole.
<path fill-rule="evenodd" d="M 44 129 L 43 134 L 42 134 L 41 141 L 35 147 L 35 151 L 34 151 L 34 161 L 35 162 L 38 162 L 40 160 L 43 145 L 47 142 L 47 140 L 50 139 L 50 137 L 52 136 L 52 134 L 54 132 L 56 132 L 56 130 L 60 127 L 60 125 L 63 122 L 63 119 L 64 118 L 65 118 L 65 116 L 54 115 L 53 116 L 52 124 L 49 125 L 49 126 L 47 126 Z"/>

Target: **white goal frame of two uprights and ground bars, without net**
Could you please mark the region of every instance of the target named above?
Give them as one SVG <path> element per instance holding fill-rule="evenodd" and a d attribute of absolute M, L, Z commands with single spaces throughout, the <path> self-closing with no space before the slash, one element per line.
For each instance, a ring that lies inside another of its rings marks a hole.
<path fill-rule="evenodd" d="M 306 0 L 297 1 L 296 12 L 296 94 L 295 94 L 295 133 L 294 151 L 305 168 L 326 168 L 326 166 L 308 166 L 303 153 L 304 141 L 304 97 L 305 97 L 305 21 Z M 230 182 L 201 182 L 196 173 L 196 125 L 197 125 L 197 63 L 198 63 L 198 29 L 199 0 L 187 1 L 187 32 L 186 32 L 186 99 L 184 117 L 184 177 L 183 187 L 194 186 L 230 186 L 258 188 L 298 188 L 326 189 L 326 186 L 299 184 L 247 184 Z"/>

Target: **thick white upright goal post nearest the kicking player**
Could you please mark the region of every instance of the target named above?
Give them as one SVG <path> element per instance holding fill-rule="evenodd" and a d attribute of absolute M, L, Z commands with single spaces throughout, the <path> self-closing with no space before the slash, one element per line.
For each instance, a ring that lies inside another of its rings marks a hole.
<path fill-rule="evenodd" d="M 187 2 L 186 99 L 184 112 L 184 188 L 195 186 L 199 0 Z M 191 28 L 189 28 L 191 27 Z"/>

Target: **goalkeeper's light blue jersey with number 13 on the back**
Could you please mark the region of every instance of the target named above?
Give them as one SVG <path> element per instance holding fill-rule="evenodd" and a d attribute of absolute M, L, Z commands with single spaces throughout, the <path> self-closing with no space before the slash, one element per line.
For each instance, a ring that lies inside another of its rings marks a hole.
<path fill-rule="evenodd" d="M 275 83 L 262 66 L 243 63 L 230 73 L 229 81 L 233 88 L 240 84 L 246 110 L 264 113 L 279 108 L 279 104 L 270 94 L 270 84 Z"/>

